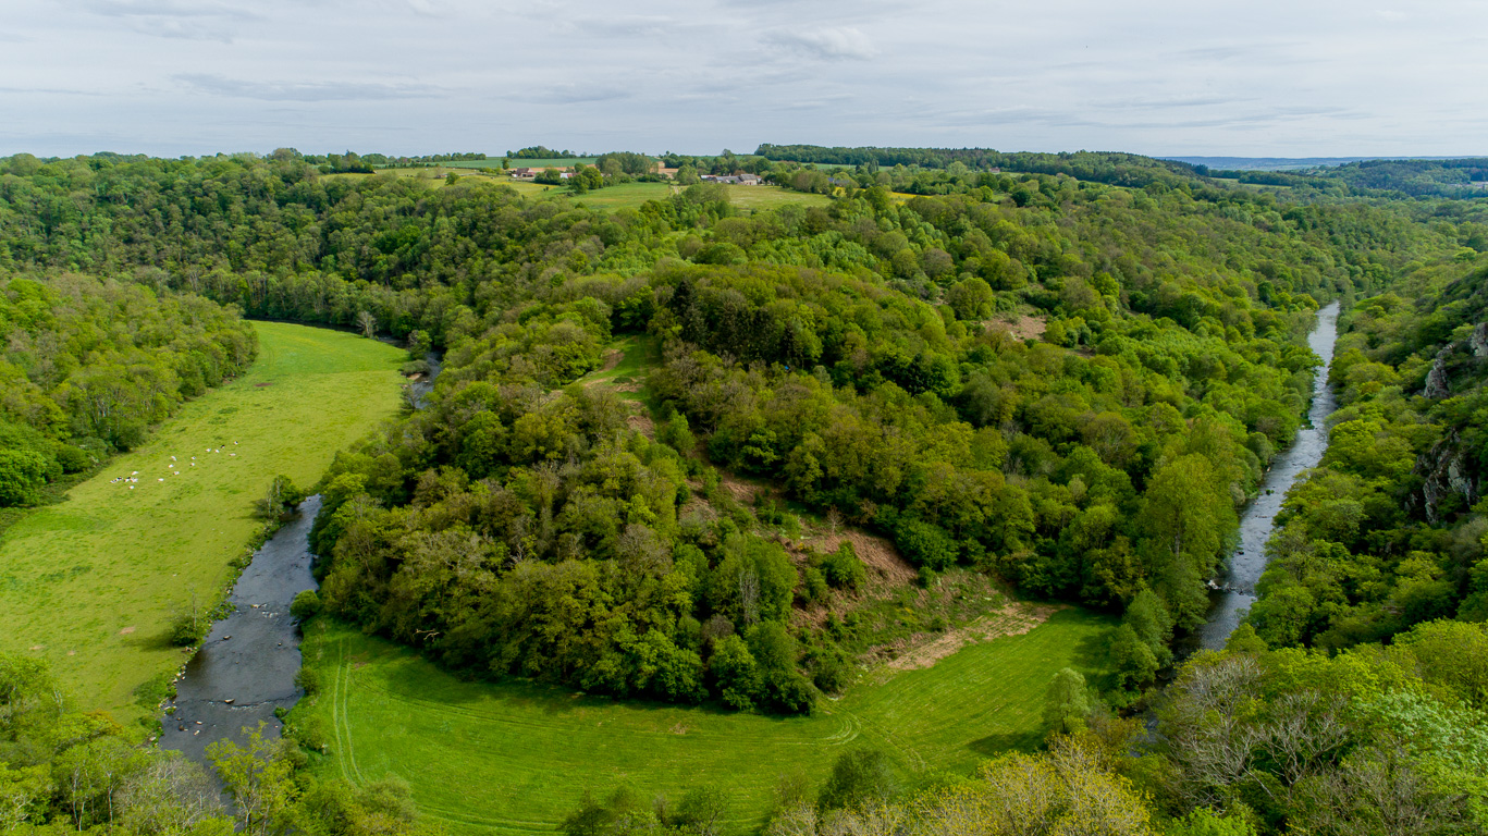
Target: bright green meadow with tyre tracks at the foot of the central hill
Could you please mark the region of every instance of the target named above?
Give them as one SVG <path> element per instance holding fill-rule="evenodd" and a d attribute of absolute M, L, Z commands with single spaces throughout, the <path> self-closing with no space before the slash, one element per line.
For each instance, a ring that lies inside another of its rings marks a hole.
<path fill-rule="evenodd" d="M 615 702 L 528 681 L 472 683 L 405 647 L 317 619 L 307 665 L 321 692 L 293 723 L 318 724 L 315 769 L 356 782 L 400 775 L 420 809 L 458 833 L 551 832 L 586 788 L 650 799 L 729 788 L 728 832 L 757 824 L 783 775 L 820 785 L 851 745 L 882 748 L 909 787 L 1040 739 L 1045 689 L 1062 666 L 1100 671 L 1110 620 L 1067 608 L 1024 635 L 973 644 L 934 666 L 876 669 L 811 717 Z"/>

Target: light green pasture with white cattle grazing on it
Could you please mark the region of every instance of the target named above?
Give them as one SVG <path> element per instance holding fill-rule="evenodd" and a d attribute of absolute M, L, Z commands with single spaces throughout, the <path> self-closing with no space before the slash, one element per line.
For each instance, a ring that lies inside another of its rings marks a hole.
<path fill-rule="evenodd" d="M 397 411 L 402 350 L 254 327 L 247 375 L 0 536 L 0 650 L 48 659 L 88 708 L 143 716 L 135 687 L 183 660 L 167 638 L 171 616 L 193 595 L 207 602 L 262 528 L 253 500 L 278 473 L 314 483 L 338 449 Z M 134 472 L 138 482 L 110 483 Z"/>

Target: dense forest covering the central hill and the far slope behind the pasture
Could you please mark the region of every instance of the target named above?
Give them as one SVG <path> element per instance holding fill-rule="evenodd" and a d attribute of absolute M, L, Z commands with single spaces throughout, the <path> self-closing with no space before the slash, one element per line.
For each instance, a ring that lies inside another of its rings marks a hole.
<path fill-rule="evenodd" d="M 1187 629 L 1299 425 L 1317 300 L 1460 244 L 1198 179 L 946 189 L 744 216 L 704 184 L 604 214 L 326 180 L 289 155 L 12 158 L 0 225 L 22 269 L 366 312 L 448 350 L 432 406 L 327 478 L 332 611 L 454 665 L 804 711 L 841 680 L 844 637 L 792 622 L 821 568 L 748 509 L 689 513 L 713 467 L 887 534 L 924 583 L 964 564 L 1097 605 L 1150 591 Z M 662 351 L 655 440 L 606 391 L 565 388 L 623 333 Z M 1149 655 L 1126 656 L 1123 681 L 1150 683 Z"/>

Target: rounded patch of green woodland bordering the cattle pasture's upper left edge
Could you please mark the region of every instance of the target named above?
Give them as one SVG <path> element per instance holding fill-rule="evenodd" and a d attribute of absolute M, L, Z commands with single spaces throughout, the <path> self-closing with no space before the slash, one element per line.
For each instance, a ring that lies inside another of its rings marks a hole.
<path fill-rule="evenodd" d="M 214 302 L 62 272 L 0 274 L 0 506 L 138 445 L 257 351 Z"/>

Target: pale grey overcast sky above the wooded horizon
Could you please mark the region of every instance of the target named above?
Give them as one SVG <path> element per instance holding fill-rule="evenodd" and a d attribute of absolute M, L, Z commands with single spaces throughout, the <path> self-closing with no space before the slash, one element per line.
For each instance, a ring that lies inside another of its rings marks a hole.
<path fill-rule="evenodd" d="M 1488 155 L 1488 1 L 6 0 L 0 155 Z"/>

